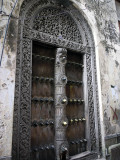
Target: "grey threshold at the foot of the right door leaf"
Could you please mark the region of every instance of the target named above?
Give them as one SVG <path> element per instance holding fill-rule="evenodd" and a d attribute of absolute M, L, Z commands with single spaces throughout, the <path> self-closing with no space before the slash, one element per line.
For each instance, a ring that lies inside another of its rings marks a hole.
<path fill-rule="evenodd" d="M 71 156 L 70 160 L 80 160 L 80 159 L 82 160 L 82 158 L 86 158 L 86 160 L 87 160 L 87 158 L 89 158 L 90 156 L 97 158 L 97 153 L 86 151 L 86 152 L 77 154 L 75 156 Z"/>

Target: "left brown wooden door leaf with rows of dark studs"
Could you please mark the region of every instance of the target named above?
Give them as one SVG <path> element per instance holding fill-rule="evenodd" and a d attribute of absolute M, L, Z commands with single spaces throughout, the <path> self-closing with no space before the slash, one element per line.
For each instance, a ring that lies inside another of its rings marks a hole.
<path fill-rule="evenodd" d="M 54 48 L 33 43 L 31 160 L 54 160 Z"/>

